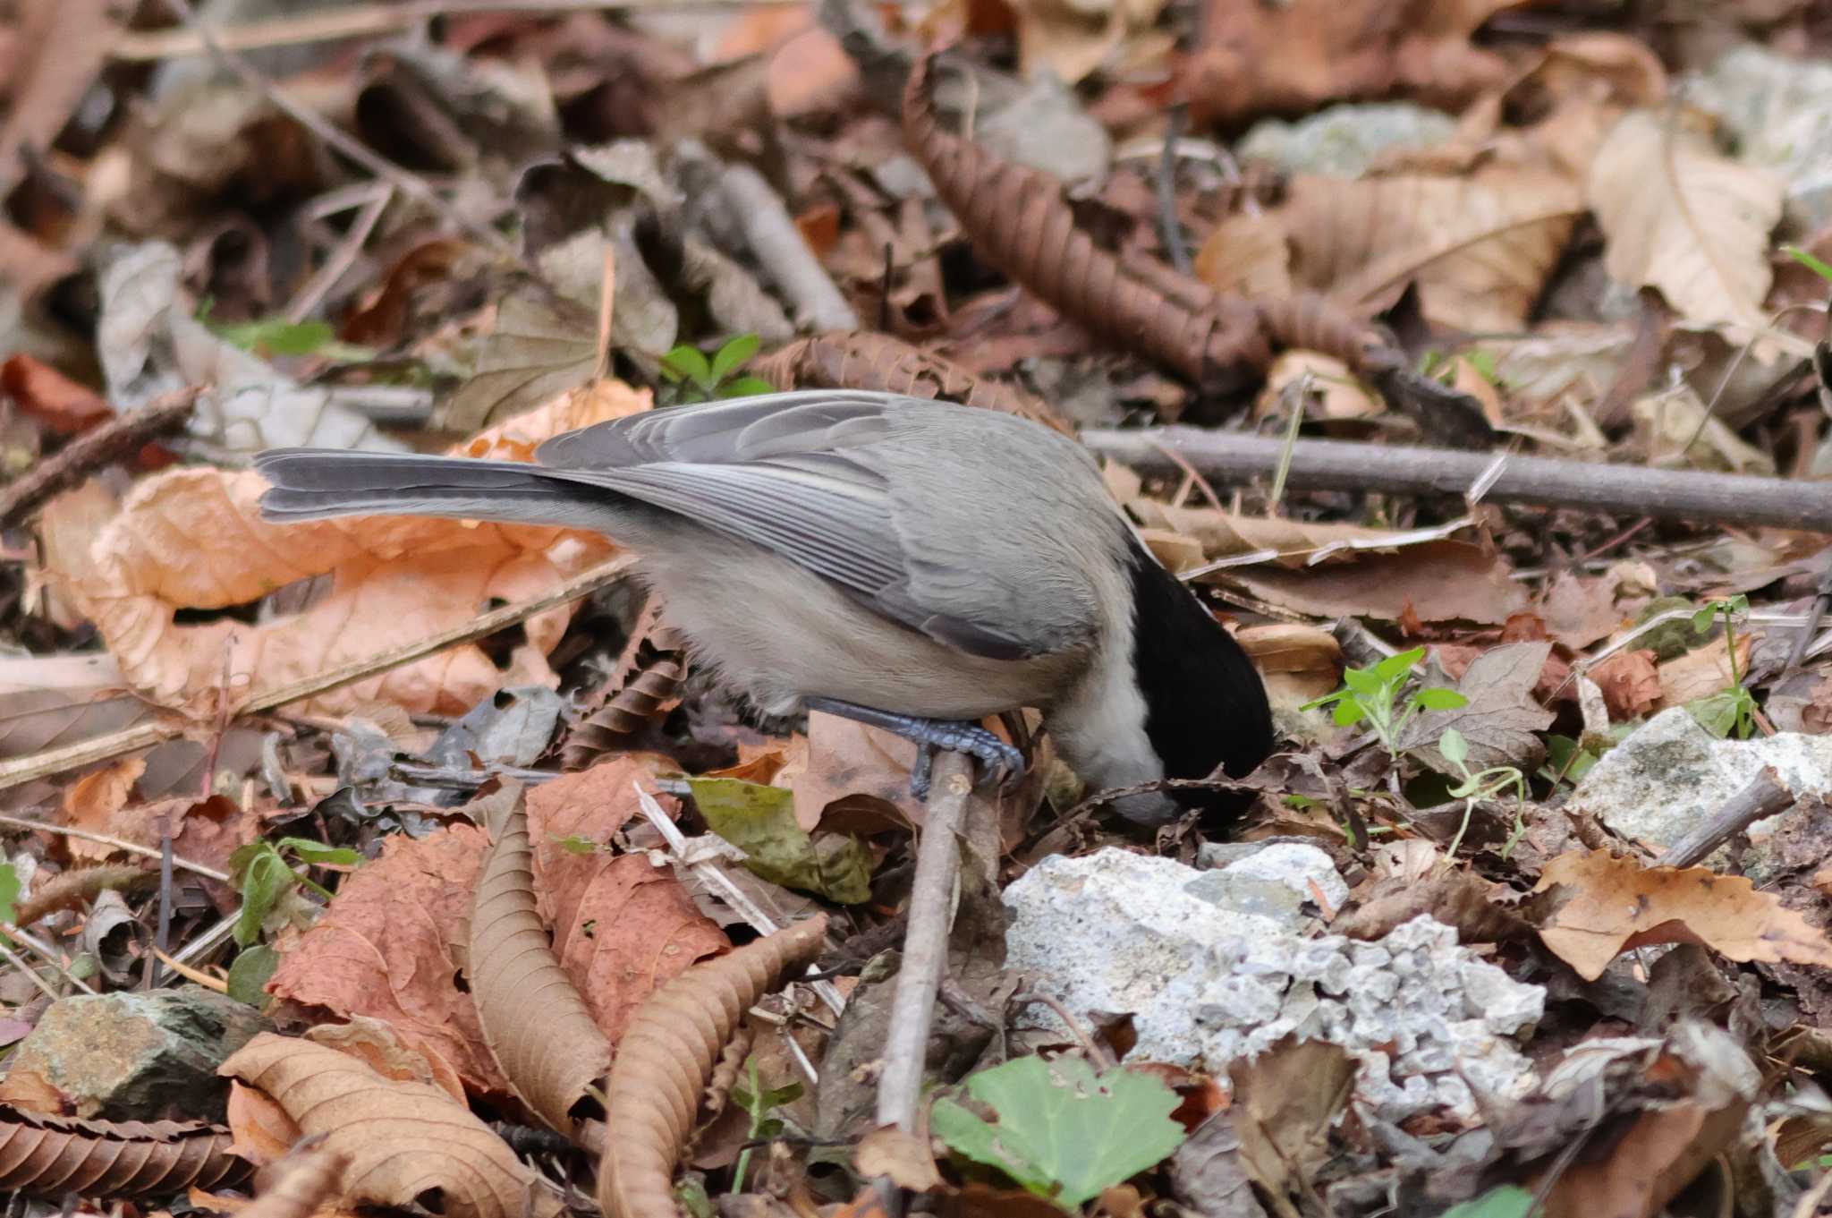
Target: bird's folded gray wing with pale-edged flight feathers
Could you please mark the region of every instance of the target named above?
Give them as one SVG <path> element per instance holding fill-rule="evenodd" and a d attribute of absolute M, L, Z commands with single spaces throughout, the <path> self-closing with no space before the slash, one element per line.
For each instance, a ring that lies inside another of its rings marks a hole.
<path fill-rule="evenodd" d="M 889 438 L 896 412 L 936 407 L 894 394 L 766 394 L 597 423 L 555 436 L 535 460 L 764 546 L 949 647 L 1019 659 L 1037 647 L 909 595 L 890 487 L 863 451 Z"/>

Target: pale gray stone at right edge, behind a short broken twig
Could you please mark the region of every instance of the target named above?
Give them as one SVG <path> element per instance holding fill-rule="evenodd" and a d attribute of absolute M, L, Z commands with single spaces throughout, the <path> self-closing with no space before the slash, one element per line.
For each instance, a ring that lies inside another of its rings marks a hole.
<path fill-rule="evenodd" d="M 1762 766 L 1773 766 L 1795 793 L 1832 791 L 1832 736 L 1777 733 L 1718 740 L 1685 707 L 1673 707 L 1605 753 L 1572 791 L 1570 804 L 1623 837 L 1665 850 L 1746 788 Z M 1764 837 L 1779 821 L 1757 821 L 1750 837 Z"/>

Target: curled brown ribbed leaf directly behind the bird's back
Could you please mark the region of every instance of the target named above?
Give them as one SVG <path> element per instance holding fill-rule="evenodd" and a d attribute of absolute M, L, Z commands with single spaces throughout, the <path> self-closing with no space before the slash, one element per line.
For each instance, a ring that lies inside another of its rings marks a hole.
<path fill-rule="evenodd" d="M 889 333 L 817 333 L 757 361 L 777 388 L 865 388 L 1017 414 L 1070 434 L 1055 407 Z"/>

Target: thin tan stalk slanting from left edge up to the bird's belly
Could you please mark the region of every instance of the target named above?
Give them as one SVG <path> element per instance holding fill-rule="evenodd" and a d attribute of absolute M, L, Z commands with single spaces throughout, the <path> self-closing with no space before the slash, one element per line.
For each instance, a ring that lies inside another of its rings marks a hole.
<path fill-rule="evenodd" d="M 282 685 L 280 689 L 258 692 L 249 698 L 238 712 L 260 714 L 264 711 L 273 711 L 275 707 L 284 707 L 288 701 L 324 694 L 343 685 L 350 685 L 352 681 L 376 676 L 377 672 L 388 672 L 390 669 L 399 669 L 401 665 L 409 665 L 416 659 L 425 659 L 427 656 L 443 652 L 447 647 L 480 639 L 485 634 L 495 634 L 506 626 L 528 621 L 535 614 L 544 614 L 550 608 L 588 597 L 599 588 L 617 582 L 628 573 L 634 562 L 634 555 L 617 555 L 616 559 L 599 562 L 597 566 L 573 575 L 546 595 L 522 601 L 520 604 L 506 604 L 500 610 L 491 610 L 489 614 L 473 617 L 462 626 L 443 630 L 429 639 L 409 643 L 407 647 L 398 647 L 392 652 L 372 656 L 368 659 L 357 659 L 355 663 L 348 663 L 341 669 L 332 669 L 330 672 L 321 672 L 302 681 Z M 156 745 L 161 740 L 185 734 L 187 727 L 189 723 L 181 720 L 139 723 L 136 727 L 97 736 L 93 740 L 82 740 L 62 749 L 48 749 L 44 753 L 33 753 L 29 756 L 0 762 L 0 791 L 20 786 L 22 782 L 31 782 L 33 778 L 44 778 L 48 775 L 64 773 L 66 769 L 75 769 L 92 762 L 103 762 L 110 756 L 121 756 L 123 753 L 132 753 L 134 749 Z"/>

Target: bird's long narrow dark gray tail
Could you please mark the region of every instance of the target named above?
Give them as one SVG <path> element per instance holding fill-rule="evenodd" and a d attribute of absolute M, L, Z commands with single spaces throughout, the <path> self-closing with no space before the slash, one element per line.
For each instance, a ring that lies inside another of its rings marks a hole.
<path fill-rule="evenodd" d="M 447 517 L 603 529 L 621 496 L 524 462 L 463 456 L 269 449 L 255 467 L 273 484 L 266 520 Z"/>

